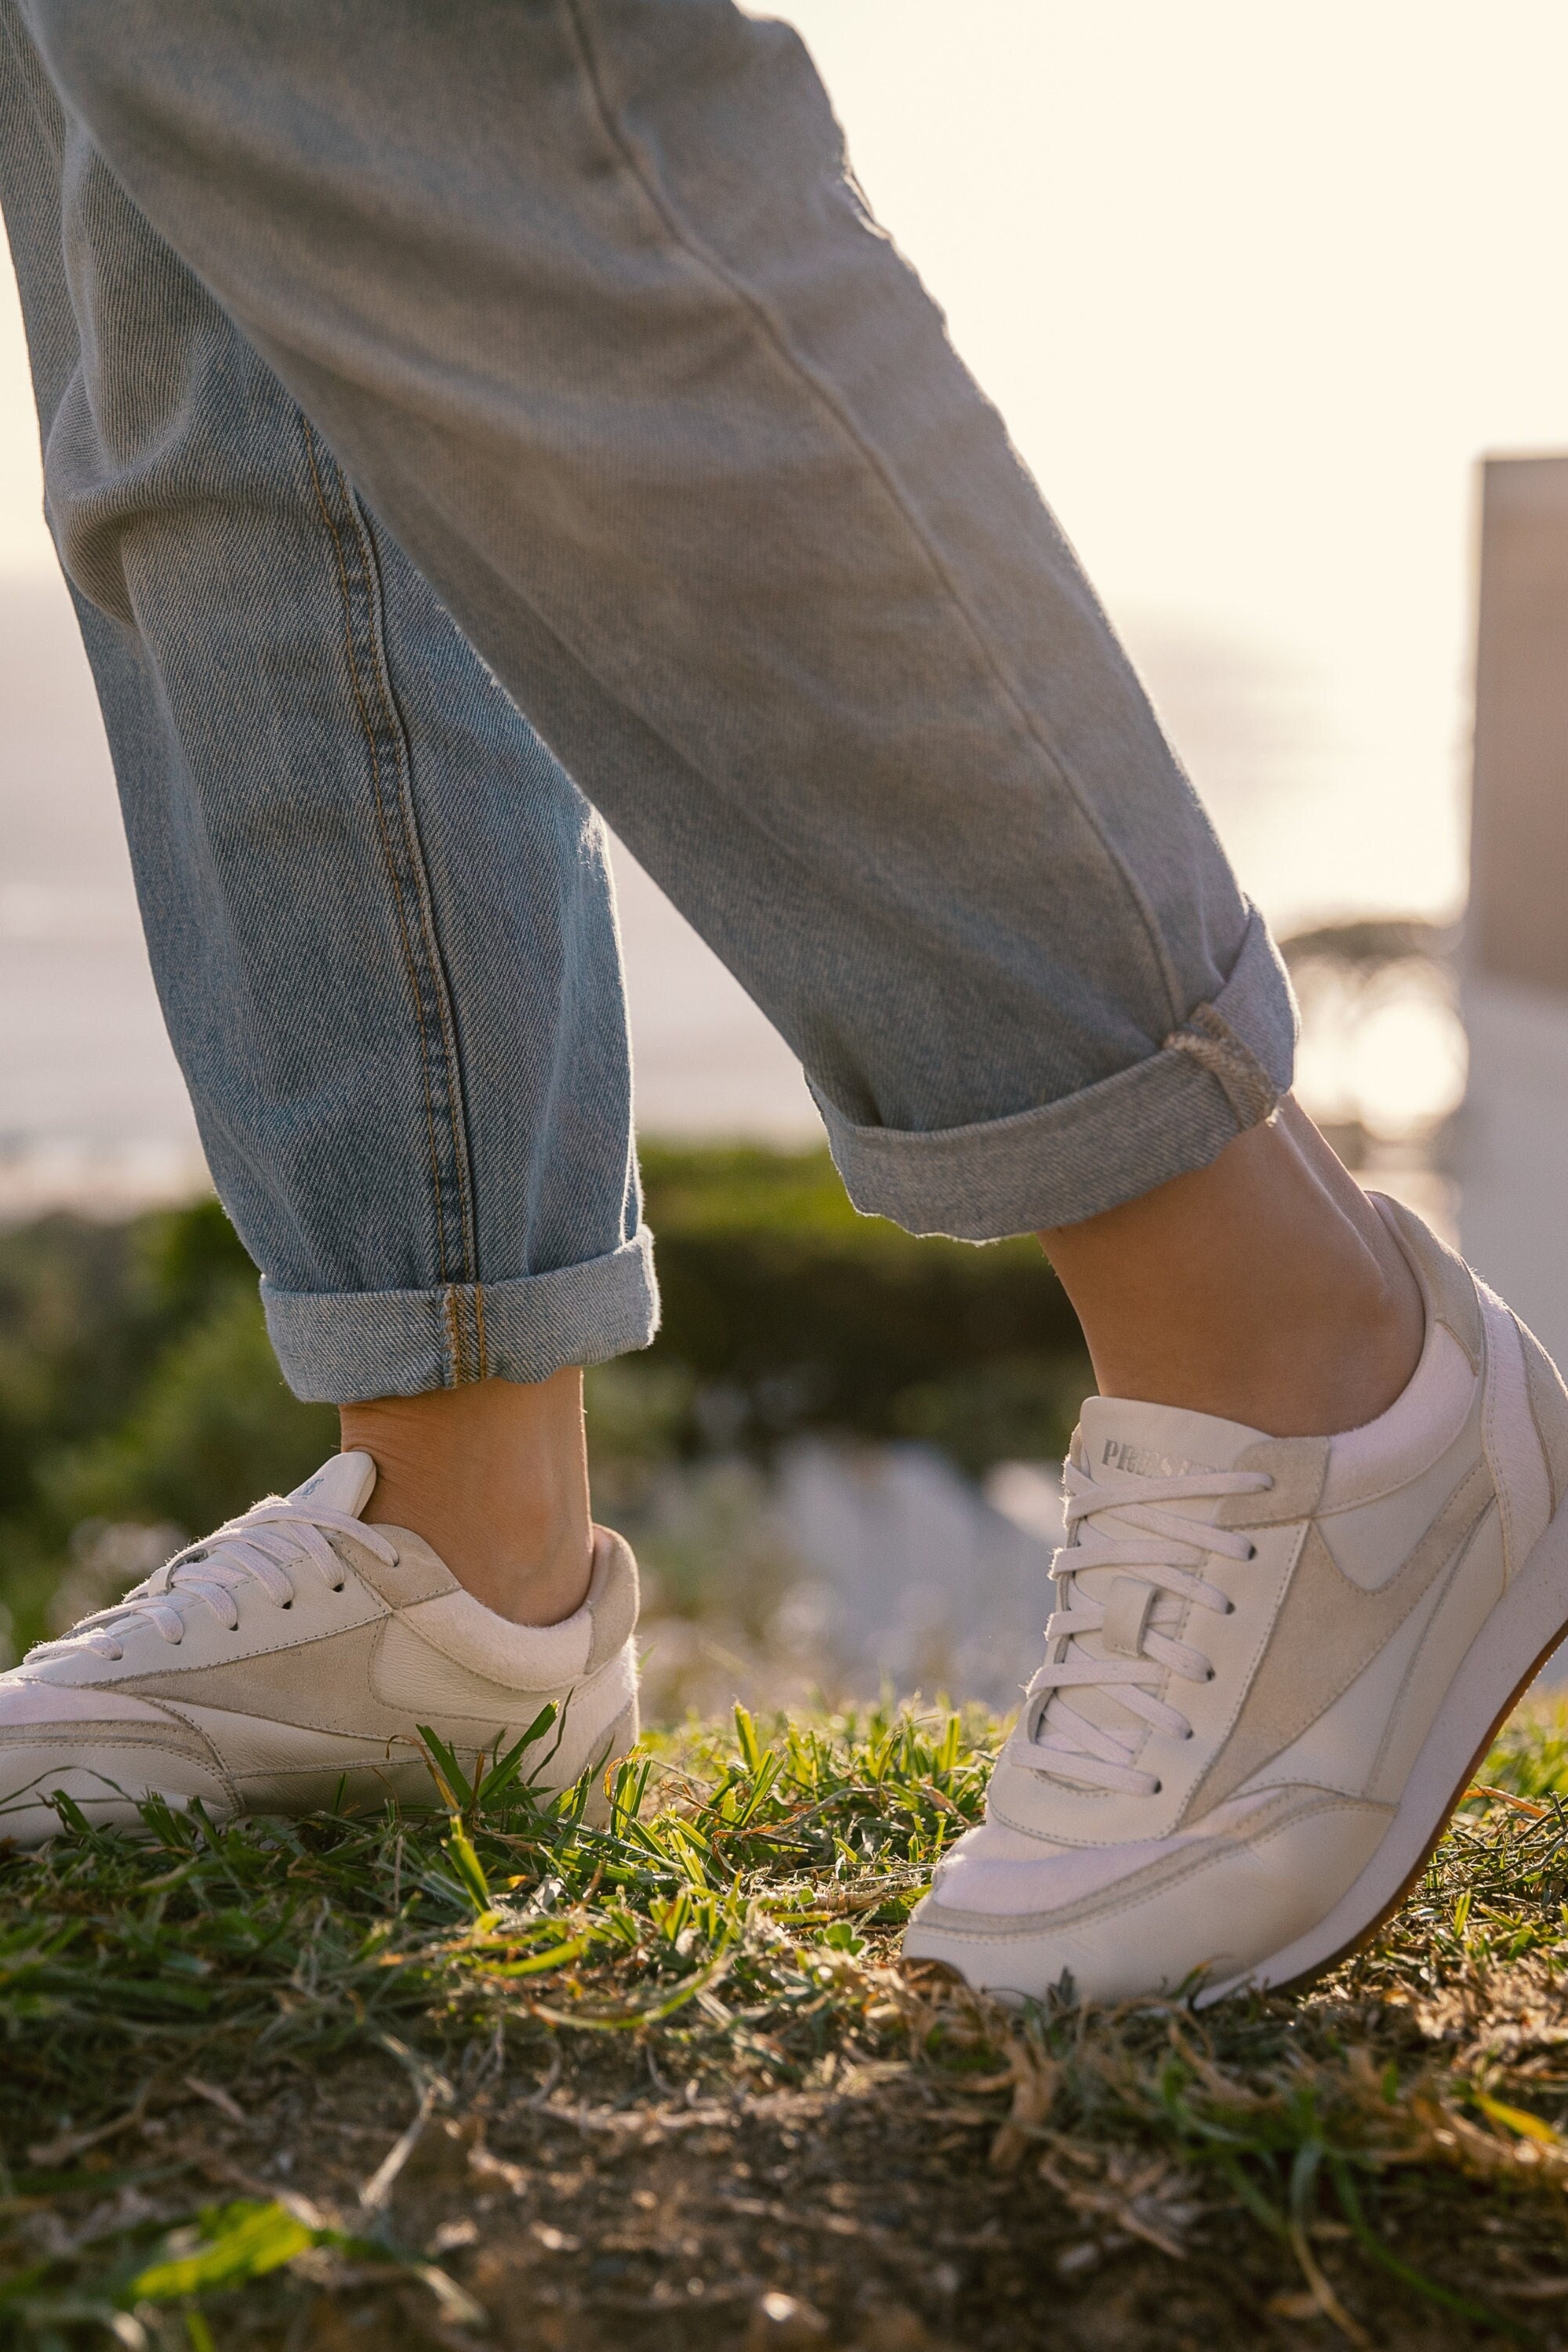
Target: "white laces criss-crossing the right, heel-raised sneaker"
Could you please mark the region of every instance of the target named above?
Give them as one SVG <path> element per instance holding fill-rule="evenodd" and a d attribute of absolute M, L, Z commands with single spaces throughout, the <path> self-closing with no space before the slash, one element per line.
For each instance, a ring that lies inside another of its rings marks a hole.
<path fill-rule="evenodd" d="M 1145 1724 L 1171 1738 L 1192 1738 L 1192 1724 L 1154 1696 L 1154 1686 L 1178 1675 L 1182 1682 L 1213 1682 L 1213 1665 L 1201 1649 L 1175 1642 L 1152 1623 L 1164 1592 L 1215 1616 L 1229 1616 L 1232 1602 L 1197 1571 L 1206 1555 L 1251 1559 L 1248 1536 L 1208 1526 L 1161 1505 L 1213 1501 L 1227 1494 L 1262 1494 L 1274 1482 L 1262 1470 L 1192 1470 L 1185 1477 L 1105 1477 L 1065 1465 L 1067 1543 L 1051 1562 L 1060 1606 L 1046 1625 L 1046 1663 L 1025 1693 L 1023 1731 L 1027 1762 L 1056 1780 L 1079 1788 L 1119 1790 L 1128 1797 L 1159 1795 L 1159 1778 L 1133 1764 Z M 1079 1590 L 1084 1569 L 1133 1569 L 1117 1578 L 1107 1599 Z M 1173 1611 L 1166 1611 L 1168 1616 Z M 1095 1658 L 1081 1635 L 1100 1635 L 1114 1656 Z M 1131 1717 L 1126 1736 L 1093 1724 L 1063 1691 L 1107 1691 Z M 1044 1700 L 1044 1703 L 1041 1703 Z"/>

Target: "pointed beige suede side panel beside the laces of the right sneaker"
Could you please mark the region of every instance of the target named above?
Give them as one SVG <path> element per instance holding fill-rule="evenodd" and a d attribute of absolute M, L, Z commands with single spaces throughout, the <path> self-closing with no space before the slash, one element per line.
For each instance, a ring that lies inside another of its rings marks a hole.
<path fill-rule="evenodd" d="M 1490 1470 L 1476 1463 L 1399 1573 L 1375 1592 L 1345 1576 L 1316 1522 L 1307 1529 L 1269 1646 L 1225 1748 L 1187 1799 L 1185 1820 L 1222 1804 L 1349 1689 L 1434 1578 L 1453 1566 L 1490 1505 Z"/>

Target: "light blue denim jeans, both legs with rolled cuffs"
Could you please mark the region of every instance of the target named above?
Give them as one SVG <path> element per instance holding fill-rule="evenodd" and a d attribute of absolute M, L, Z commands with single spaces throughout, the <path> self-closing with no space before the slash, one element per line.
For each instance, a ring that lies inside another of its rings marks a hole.
<path fill-rule="evenodd" d="M 301 1395 L 649 1338 L 595 809 L 802 1056 L 860 1209 L 1070 1223 L 1267 1115 L 1279 957 L 795 33 L 0 26 L 49 522 Z"/>

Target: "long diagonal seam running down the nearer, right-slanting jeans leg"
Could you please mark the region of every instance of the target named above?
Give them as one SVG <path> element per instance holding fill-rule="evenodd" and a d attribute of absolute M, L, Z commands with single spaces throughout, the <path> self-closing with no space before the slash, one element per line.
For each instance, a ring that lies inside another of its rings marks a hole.
<path fill-rule="evenodd" d="M 1105 826 L 1103 826 L 1103 821 L 1100 821 L 1100 816 L 1098 816 L 1098 811 L 1093 807 L 1093 800 L 1084 793 L 1084 788 L 1081 788 L 1077 774 L 1072 771 L 1070 762 L 1063 760 L 1060 750 L 1051 743 L 1051 739 L 1039 727 L 1039 722 L 1032 717 L 1027 703 L 1018 694 L 1018 687 L 1013 684 L 1013 680 L 1011 680 L 1011 675 L 1009 675 L 1001 656 L 994 652 L 994 647 L 990 642 L 990 635 L 980 628 L 978 619 L 971 614 L 966 600 L 964 600 L 964 595 L 961 595 L 961 590 L 957 586 L 957 579 L 952 576 L 952 572 L 947 569 L 947 564 L 938 555 L 938 550 L 936 550 L 933 541 L 929 539 L 929 534 L 926 534 L 926 529 L 924 529 L 924 524 L 922 524 L 914 506 L 910 503 L 907 494 L 903 492 L 903 485 L 898 482 L 898 475 L 893 473 L 893 468 L 889 466 L 889 461 L 882 456 L 882 452 L 875 447 L 875 442 L 870 442 L 867 435 L 860 430 L 860 423 L 856 421 L 853 412 L 849 409 L 849 405 L 839 395 L 837 386 L 830 379 L 823 379 L 818 374 L 818 369 L 795 348 L 795 341 L 790 339 L 785 320 L 773 313 L 771 303 L 762 294 L 757 294 L 750 285 L 745 285 L 743 278 L 738 278 L 733 270 L 729 270 L 717 259 L 717 254 L 712 254 L 701 242 L 701 238 L 693 235 L 693 230 L 689 228 L 689 223 L 677 214 L 677 209 L 670 202 L 670 198 L 661 191 L 661 186 L 656 186 L 654 174 L 642 162 L 642 155 L 637 151 L 637 143 L 632 141 L 632 134 L 623 127 L 621 115 L 611 106 L 609 92 L 604 87 L 604 78 L 599 73 L 599 66 L 597 66 L 597 52 L 595 52 L 595 45 L 590 40 L 588 24 L 585 24 L 585 9 L 590 5 L 592 5 L 592 0 L 562 0 L 562 9 L 564 9 L 564 14 L 567 14 L 567 19 L 571 24 L 571 31 L 576 35 L 578 59 L 581 59 L 583 75 L 585 75 L 588 87 L 590 87 L 592 99 L 595 99 L 595 111 L 599 115 L 599 125 L 602 125 L 607 139 L 611 141 L 616 155 L 621 158 L 623 167 L 630 172 L 630 176 L 637 183 L 637 188 L 642 191 L 644 200 L 651 205 L 651 209 L 663 221 L 668 235 L 675 238 L 675 242 L 679 245 L 679 249 L 691 261 L 696 261 L 698 268 L 708 270 L 708 275 L 719 287 L 724 287 L 724 292 L 731 296 L 731 301 L 741 303 L 741 308 L 750 310 L 752 318 L 762 322 L 762 327 L 766 329 L 769 341 L 773 343 L 773 350 L 783 358 L 785 367 L 813 393 L 813 397 L 818 400 L 818 405 L 827 412 L 827 416 L 835 419 L 835 423 L 846 435 L 846 440 L 851 442 L 851 447 L 858 452 L 858 456 L 863 459 L 863 463 L 882 482 L 882 489 L 884 489 L 884 494 L 886 494 L 893 513 L 898 515 L 898 520 L 907 529 L 914 548 L 922 553 L 922 557 L 924 557 L 926 567 L 931 569 L 938 588 L 950 600 L 950 604 L 957 612 L 959 621 L 969 630 L 969 637 L 971 637 L 971 642 L 973 642 L 973 647 L 976 647 L 983 666 L 987 668 L 987 673 L 990 673 L 997 691 L 1001 694 L 1004 703 L 1011 708 L 1016 724 L 1037 746 L 1037 750 L 1044 755 L 1044 760 L 1056 769 L 1056 774 L 1060 776 L 1060 781 L 1067 786 L 1067 790 L 1072 793 L 1072 800 L 1077 802 L 1079 816 L 1084 818 L 1084 823 L 1088 826 L 1088 830 L 1098 840 L 1100 851 L 1103 851 L 1107 866 L 1121 880 L 1121 887 L 1128 894 L 1128 898 L 1131 898 L 1131 903 L 1133 903 L 1133 908 L 1138 913 L 1138 922 L 1140 922 L 1143 934 L 1145 934 L 1145 946 L 1150 948 L 1150 953 L 1154 957 L 1154 969 L 1159 971 L 1159 981 L 1161 981 L 1161 985 L 1166 990 L 1168 1016 L 1171 1016 L 1173 1023 L 1185 1021 L 1190 1007 L 1182 1000 L 1182 993 L 1180 993 L 1180 985 L 1178 985 L 1178 976 L 1175 976 L 1175 967 L 1171 964 L 1171 955 L 1166 950 L 1164 934 L 1161 934 L 1159 922 L 1154 917 L 1154 908 L 1150 906 L 1150 898 L 1143 891 L 1143 884 L 1138 882 L 1138 877 L 1133 875 L 1131 866 L 1124 861 L 1121 851 L 1117 849 L 1117 844 L 1112 842 L 1110 833 L 1105 830 Z"/>

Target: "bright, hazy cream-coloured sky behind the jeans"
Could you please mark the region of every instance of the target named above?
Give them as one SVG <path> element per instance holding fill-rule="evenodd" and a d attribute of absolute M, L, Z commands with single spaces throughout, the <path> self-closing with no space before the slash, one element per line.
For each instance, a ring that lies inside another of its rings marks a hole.
<path fill-rule="evenodd" d="M 1568 447 L 1561 0 L 797 0 L 1276 920 L 1450 908 L 1472 468 Z M 0 567 L 47 562 L 0 320 Z"/>

